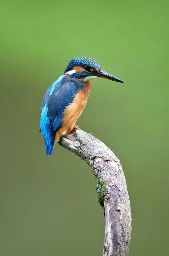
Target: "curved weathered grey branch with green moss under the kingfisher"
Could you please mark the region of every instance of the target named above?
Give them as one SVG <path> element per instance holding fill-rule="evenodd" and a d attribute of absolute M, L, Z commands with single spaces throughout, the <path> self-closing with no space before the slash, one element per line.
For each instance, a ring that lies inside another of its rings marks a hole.
<path fill-rule="evenodd" d="M 85 160 L 98 181 L 98 201 L 103 207 L 106 219 L 102 255 L 127 255 L 131 209 L 119 159 L 101 141 L 80 129 L 72 135 L 61 137 L 58 143 Z"/>

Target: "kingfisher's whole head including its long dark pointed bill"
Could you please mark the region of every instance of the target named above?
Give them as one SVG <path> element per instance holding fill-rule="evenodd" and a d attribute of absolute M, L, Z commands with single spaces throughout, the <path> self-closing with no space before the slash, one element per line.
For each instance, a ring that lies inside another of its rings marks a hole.
<path fill-rule="evenodd" d="M 66 67 L 65 74 L 69 74 L 77 79 L 82 79 L 84 82 L 90 81 L 95 77 L 102 77 L 115 82 L 124 83 L 117 77 L 103 71 L 96 61 L 86 57 L 79 57 L 71 60 Z"/>

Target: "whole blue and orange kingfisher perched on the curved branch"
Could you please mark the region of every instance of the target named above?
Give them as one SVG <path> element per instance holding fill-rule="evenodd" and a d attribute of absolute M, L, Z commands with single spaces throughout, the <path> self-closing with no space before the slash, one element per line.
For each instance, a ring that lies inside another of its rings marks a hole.
<path fill-rule="evenodd" d="M 77 119 L 85 108 L 90 80 L 101 77 L 124 83 L 101 69 L 94 60 L 87 57 L 72 59 L 61 75 L 46 91 L 40 117 L 40 132 L 44 137 L 46 154 L 51 155 L 61 136 L 76 131 Z"/>

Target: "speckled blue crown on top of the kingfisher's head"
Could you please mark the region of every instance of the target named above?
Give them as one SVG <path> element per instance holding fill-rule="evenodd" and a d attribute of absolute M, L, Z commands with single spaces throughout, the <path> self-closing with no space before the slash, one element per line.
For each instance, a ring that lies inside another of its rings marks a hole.
<path fill-rule="evenodd" d="M 71 60 L 68 63 L 68 66 L 65 69 L 65 73 L 72 70 L 75 66 L 82 66 L 82 67 L 89 66 L 91 68 L 97 68 L 97 69 L 101 70 L 100 65 L 96 61 L 94 61 L 90 58 L 87 58 L 87 57 L 78 57 L 78 58 Z"/>

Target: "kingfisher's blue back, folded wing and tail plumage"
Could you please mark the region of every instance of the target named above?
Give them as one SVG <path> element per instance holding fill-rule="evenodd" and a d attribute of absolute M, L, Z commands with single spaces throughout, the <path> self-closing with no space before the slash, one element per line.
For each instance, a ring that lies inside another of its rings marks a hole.
<path fill-rule="evenodd" d="M 69 75 L 59 77 L 47 90 L 41 107 L 40 131 L 44 136 L 46 154 L 51 155 L 55 135 L 61 128 L 63 112 L 83 88 L 84 83 Z"/>

